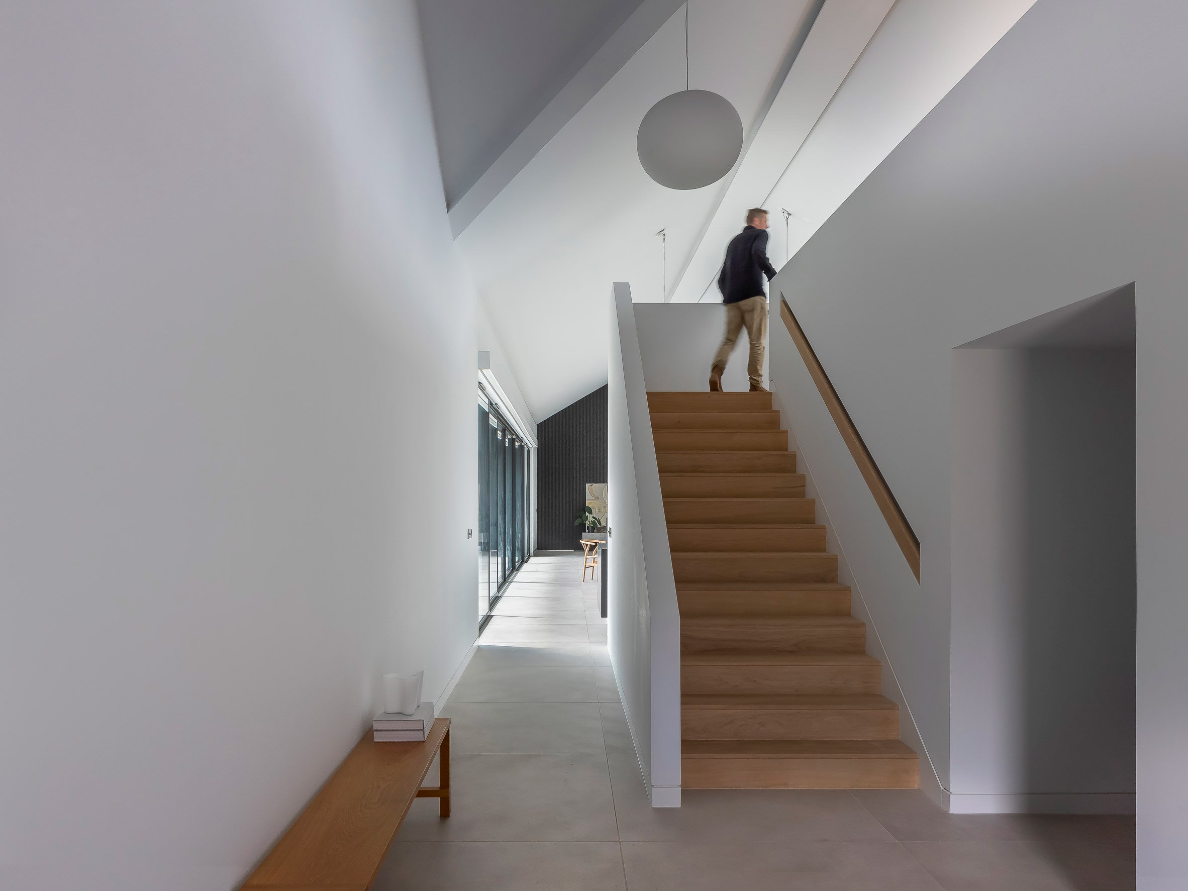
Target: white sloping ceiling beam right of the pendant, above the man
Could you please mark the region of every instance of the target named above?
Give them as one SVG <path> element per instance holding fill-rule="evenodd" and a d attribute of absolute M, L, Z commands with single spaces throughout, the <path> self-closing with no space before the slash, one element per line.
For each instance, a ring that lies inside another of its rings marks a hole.
<path fill-rule="evenodd" d="M 895 0 L 827 0 L 670 286 L 670 301 L 696 303 L 715 284 L 726 244 L 742 228 L 746 209 L 775 189 L 893 5 Z M 767 209 L 771 225 L 778 225 L 779 208 Z"/>

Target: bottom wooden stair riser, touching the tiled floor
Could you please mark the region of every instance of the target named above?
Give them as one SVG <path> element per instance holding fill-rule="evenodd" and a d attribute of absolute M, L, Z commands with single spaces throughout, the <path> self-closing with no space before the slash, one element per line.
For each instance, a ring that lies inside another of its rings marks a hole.
<path fill-rule="evenodd" d="M 685 789 L 916 789 L 908 758 L 682 758 Z"/>

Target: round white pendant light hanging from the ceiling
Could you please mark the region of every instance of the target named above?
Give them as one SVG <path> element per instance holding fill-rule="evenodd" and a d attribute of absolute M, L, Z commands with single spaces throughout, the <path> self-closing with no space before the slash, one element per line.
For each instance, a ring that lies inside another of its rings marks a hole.
<path fill-rule="evenodd" d="M 701 189 L 734 166 L 742 151 L 742 121 L 716 93 L 674 93 L 644 115 L 636 151 L 647 176 L 661 185 Z"/>

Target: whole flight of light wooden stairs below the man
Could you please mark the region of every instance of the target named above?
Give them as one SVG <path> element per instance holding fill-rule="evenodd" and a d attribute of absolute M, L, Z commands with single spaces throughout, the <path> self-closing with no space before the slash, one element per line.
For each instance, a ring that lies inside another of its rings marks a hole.
<path fill-rule="evenodd" d="M 647 399 L 681 605 L 682 785 L 916 788 L 771 393 Z"/>

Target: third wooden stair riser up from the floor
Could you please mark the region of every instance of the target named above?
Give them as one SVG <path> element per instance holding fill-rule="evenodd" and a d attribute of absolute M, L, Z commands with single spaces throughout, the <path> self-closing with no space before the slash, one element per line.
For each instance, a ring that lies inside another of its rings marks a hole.
<path fill-rule="evenodd" d="M 681 693 L 731 695 L 879 693 L 881 666 L 871 665 L 681 665 Z"/>

